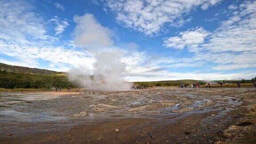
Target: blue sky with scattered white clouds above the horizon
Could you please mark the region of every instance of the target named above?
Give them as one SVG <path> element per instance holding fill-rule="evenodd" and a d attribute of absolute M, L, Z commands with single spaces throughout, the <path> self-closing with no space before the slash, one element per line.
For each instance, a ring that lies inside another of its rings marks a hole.
<path fill-rule="evenodd" d="M 251 79 L 256 0 L 0 0 L 0 63 L 92 75 L 108 48 L 127 81 Z"/>

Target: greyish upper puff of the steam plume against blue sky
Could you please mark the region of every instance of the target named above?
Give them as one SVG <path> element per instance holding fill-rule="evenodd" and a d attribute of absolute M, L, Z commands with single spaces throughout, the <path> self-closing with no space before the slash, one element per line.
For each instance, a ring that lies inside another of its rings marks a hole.
<path fill-rule="evenodd" d="M 74 16 L 74 43 L 78 46 L 112 46 L 111 31 L 96 21 L 92 14 Z"/>

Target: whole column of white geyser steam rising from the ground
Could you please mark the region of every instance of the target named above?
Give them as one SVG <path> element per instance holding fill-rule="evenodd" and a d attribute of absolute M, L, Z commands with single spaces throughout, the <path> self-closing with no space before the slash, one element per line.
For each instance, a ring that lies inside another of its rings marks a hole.
<path fill-rule="evenodd" d="M 95 58 L 93 70 L 76 68 L 69 72 L 69 79 L 84 88 L 102 91 L 130 90 L 131 83 L 124 80 L 125 64 L 121 62 L 123 51 L 112 47 L 111 32 L 100 25 L 91 14 L 74 16 L 75 44 L 85 48 Z M 82 63 L 82 62 L 80 62 Z M 92 73 L 90 73 L 92 71 Z M 90 75 L 93 76 L 90 76 Z"/>

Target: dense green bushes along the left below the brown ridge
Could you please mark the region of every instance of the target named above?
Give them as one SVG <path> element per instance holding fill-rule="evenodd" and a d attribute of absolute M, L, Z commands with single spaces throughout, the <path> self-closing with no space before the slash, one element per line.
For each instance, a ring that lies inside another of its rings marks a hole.
<path fill-rule="evenodd" d="M 0 88 L 53 88 L 72 87 L 76 85 L 67 76 L 53 76 L 0 71 Z"/>

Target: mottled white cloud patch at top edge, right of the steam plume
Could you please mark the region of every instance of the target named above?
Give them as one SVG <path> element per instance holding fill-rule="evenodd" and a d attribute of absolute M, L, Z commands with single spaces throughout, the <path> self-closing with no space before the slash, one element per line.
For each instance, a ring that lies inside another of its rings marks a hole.
<path fill-rule="evenodd" d="M 222 0 L 107 0 L 106 5 L 117 12 L 116 20 L 125 27 L 148 36 L 158 33 L 166 24 L 179 27 L 190 21 L 184 18 L 199 6 L 207 9 Z"/>

